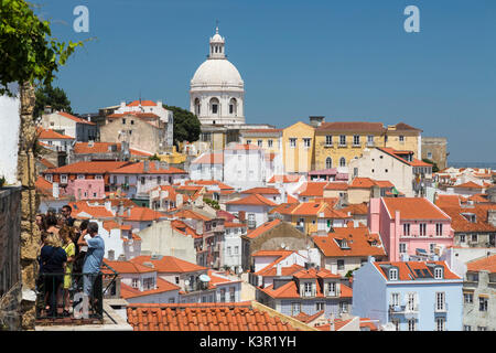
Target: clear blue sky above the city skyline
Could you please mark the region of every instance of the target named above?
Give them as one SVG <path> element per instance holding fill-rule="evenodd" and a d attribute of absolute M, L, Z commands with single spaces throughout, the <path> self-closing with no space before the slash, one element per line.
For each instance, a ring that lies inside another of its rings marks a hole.
<path fill-rule="evenodd" d="M 138 98 L 188 108 L 215 21 L 246 88 L 247 122 L 407 122 L 451 161 L 496 162 L 494 0 L 33 0 L 61 40 L 95 38 L 58 73 L 77 113 Z M 89 10 L 76 33 L 73 10 Z M 420 9 L 420 33 L 403 10 Z"/>

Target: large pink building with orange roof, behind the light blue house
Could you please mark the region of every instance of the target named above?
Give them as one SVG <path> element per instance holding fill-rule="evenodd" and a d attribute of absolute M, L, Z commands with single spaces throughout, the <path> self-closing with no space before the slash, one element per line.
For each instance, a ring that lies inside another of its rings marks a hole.
<path fill-rule="evenodd" d="M 390 261 L 402 255 L 441 255 L 453 245 L 451 217 L 423 197 L 370 199 L 368 225 L 380 234 Z"/>

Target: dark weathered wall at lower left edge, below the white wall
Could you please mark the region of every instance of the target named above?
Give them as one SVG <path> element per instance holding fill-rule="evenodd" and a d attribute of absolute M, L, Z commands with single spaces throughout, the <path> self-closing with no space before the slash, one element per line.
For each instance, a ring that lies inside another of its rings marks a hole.
<path fill-rule="evenodd" d="M 20 329 L 21 188 L 0 189 L 0 330 Z"/>

